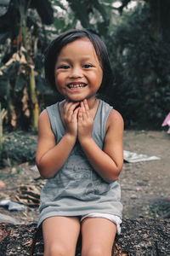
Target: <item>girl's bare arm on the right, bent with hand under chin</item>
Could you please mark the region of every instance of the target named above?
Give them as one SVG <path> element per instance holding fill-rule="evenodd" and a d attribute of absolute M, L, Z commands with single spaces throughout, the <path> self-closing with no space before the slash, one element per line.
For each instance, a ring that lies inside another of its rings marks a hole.
<path fill-rule="evenodd" d="M 123 164 L 123 119 L 120 113 L 112 110 L 106 124 L 104 149 L 100 149 L 91 137 L 93 121 L 88 113 L 87 102 L 84 102 L 78 117 L 78 137 L 82 149 L 94 170 L 110 183 L 115 181 Z"/>

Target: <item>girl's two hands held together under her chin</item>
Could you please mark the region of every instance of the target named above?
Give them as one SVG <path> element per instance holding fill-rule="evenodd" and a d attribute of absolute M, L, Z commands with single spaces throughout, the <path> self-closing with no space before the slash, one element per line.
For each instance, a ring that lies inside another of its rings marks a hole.
<path fill-rule="evenodd" d="M 91 138 L 94 128 L 94 119 L 89 112 L 88 101 L 65 102 L 64 123 L 66 133 L 82 141 Z"/>

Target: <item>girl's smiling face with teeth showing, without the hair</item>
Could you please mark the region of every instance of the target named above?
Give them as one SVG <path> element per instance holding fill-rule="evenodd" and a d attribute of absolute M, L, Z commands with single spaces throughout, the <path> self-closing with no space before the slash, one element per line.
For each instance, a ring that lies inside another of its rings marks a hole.
<path fill-rule="evenodd" d="M 72 102 L 96 96 L 103 71 L 94 45 L 88 38 L 77 39 L 61 49 L 54 76 L 57 90 Z"/>

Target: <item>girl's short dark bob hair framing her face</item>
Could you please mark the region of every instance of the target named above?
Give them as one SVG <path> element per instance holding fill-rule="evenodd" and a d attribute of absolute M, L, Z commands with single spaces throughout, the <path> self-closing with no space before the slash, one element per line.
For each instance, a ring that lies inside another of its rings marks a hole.
<path fill-rule="evenodd" d="M 109 55 L 103 41 L 97 35 L 88 32 L 87 30 L 69 30 L 60 34 L 59 37 L 55 38 L 51 44 L 49 44 L 44 55 L 45 79 L 56 89 L 54 67 L 59 56 L 59 52 L 66 44 L 74 42 L 80 38 L 88 38 L 94 45 L 96 55 L 98 56 L 99 63 L 103 70 L 103 79 L 99 91 L 106 89 L 113 82 L 113 73 L 111 70 Z"/>

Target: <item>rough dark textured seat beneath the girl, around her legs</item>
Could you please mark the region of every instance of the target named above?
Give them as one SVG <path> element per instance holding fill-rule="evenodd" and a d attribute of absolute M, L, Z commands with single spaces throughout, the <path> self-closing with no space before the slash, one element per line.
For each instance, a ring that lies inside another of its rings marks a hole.
<path fill-rule="evenodd" d="M 114 256 L 170 255 L 170 219 L 123 219 L 122 234 L 116 236 Z M 36 224 L 0 224 L 0 256 L 43 255 L 42 230 Z M 81 255 L 81 237 L 76 256 Z"/>

